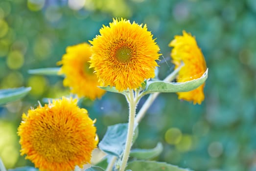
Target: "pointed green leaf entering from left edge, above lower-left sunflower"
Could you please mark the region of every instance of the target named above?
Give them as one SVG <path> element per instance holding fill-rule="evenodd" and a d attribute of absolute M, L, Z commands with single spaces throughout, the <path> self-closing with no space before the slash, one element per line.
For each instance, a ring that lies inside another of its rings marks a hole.
<path fill-rule="evenodd" d="M 31 87 L 8 88 L 0 90 L 0 105 L 23 98 Z"/>

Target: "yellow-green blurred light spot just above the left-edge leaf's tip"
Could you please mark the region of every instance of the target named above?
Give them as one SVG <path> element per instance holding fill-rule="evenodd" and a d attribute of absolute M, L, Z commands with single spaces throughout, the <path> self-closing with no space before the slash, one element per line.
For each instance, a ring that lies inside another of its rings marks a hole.
<path fill-rule="evenodd" d="M 43 76 L 31 76 L 28 79 L 27 86 L 31 86 L 30 94 L 33 96 L 42 95 L 47 87 L 47 79 Z"/>

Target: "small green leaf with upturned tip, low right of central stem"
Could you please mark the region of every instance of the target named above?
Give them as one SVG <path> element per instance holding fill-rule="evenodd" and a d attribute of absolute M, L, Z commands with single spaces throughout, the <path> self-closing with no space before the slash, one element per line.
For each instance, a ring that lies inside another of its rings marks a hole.
<path fill-rule="evenodd" d="M 133 149 L 130 156 L 137 159 L 148 160 L 158 156 L 163 151 L 162 143 L 158 143 L 154 149 Z"/>

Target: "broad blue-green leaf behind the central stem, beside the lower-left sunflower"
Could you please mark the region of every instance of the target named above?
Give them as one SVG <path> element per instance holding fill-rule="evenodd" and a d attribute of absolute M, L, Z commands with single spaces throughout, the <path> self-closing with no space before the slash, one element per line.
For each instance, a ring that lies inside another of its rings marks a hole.
<path fill-rule="evenodd" d="M 99 149 L 110 155 L 120 157 L 126 143 L 128 124 L 116 124 L 109 126 L 103 139 L 99 143 Z M 135 129 L 133 142 L 138 136 L 138 128 Z"/>

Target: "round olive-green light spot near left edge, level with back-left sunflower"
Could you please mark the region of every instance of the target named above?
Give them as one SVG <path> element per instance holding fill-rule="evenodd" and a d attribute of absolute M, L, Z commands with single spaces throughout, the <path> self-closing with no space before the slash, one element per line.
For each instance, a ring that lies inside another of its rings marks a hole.
<path fill-rule="evenodd" d="M 19 69 L 24 63 L 24 56 L 20 51 L 11 51 L 7 56 L 6 63 L 10 69 Z"/>

